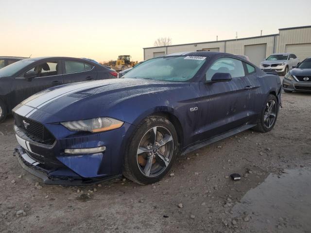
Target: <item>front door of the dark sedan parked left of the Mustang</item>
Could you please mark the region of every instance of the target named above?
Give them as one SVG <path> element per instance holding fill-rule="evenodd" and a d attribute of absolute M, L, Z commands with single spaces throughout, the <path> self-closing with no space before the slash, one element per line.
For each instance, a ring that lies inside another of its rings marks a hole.
<path fill-rule="evenodd" d="M 37 63 L 34 67 L 16 78 L 14 80 L 15 105 L 39 91 L 63 84 L 61 65 L 60 60 Z M 28 71 L 35 71 L 35 77 L 25 78 L 25 74 Z"/>

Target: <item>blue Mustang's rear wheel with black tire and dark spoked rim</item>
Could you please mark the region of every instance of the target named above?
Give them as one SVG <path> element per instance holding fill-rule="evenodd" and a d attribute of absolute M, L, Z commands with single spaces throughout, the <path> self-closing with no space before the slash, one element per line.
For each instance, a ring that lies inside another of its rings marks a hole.
<path fill-rule="evenodd" d="M 270 108 L 271 106 L 270 103 L 272 103 L 272 101 L 274 101 L 275 106 L 271 107 L 271 110 L 269 112 L 268 109 Z M 273 114 L 275 114 L 275 116 L 273 116 Z M 264 102 L 260 116 L 257 121 L 257 126 L 255 126 L 253 129 L 262 133 L 267 133 L 271 131 L 276 124 L 277 114 L 278 114 L 278 102 L 276 96 L 270 94 L 267 100 Z M 274 119 L 273 122 L 272 119 Z"/>

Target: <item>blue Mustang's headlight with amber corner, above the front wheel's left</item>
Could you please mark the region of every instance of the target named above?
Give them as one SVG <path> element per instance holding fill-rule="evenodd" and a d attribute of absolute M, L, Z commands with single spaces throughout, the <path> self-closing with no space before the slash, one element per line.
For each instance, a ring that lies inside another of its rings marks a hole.
<path fill-rule="evenodd" d="M 123 123 L 124 122 L 120 120 L 109 117 L 98 117 L 87 120 L 61 122 L 61 124 L 70 131 L 88 131 L 92 133 L 119 129 Z"/>

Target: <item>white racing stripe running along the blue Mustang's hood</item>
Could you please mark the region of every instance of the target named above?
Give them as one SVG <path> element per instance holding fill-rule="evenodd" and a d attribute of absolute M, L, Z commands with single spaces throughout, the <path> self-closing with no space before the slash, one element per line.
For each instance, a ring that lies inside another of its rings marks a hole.
<path fill-rule="evenodd" d="M 69 86 L 64 86 L 61 88 L 57 88 L 52 91 L 47 91 L 35 96 L 35 98 L 30 97 L 29 99 L 25 100 L 22 102 L 22 104 L 26 104 L 28 106 L 34 107 L 34 108 L 42 108 L 43 106 L 47 105 L 48 103 L 57 100 L 59 98 L 62 98 L 66 95 L 69 95 L 71 93 L 81 91 L 84 89 L 96 87 L 96 86 L 101 86 L 103 85 L 104 82 L 103 80 L 100 81 L 95 81 L 95 82 L 84 82 L 84 83 L 78 83 L 74 85 L 69 85 Z M 107 83 L 109 84 L 109 83 Z"/>

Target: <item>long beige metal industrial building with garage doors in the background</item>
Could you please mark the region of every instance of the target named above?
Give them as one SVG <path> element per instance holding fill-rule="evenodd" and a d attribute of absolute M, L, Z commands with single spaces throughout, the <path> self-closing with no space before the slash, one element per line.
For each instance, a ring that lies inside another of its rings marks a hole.
<path fill-rule="evenodd" d="M 263 59 L 276 52 L 294 53 L 300 61 L 311 56 L 311 26 L 278 31 L 278 34 L 248 38 L 144 48 L 144 60 L 174 52 L 207 50 L 246 55 L 259 66 Z"/>

